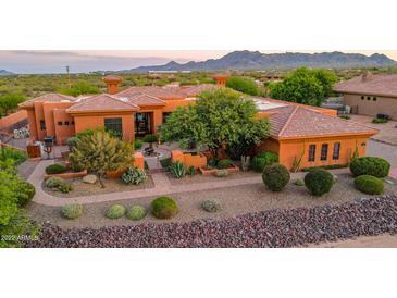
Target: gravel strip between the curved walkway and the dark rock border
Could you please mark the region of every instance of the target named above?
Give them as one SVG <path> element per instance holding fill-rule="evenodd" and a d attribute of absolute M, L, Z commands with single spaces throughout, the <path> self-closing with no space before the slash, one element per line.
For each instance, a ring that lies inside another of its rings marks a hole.
<path fill-rule="evenodd" d="M 34 202 L 29 204 L 28 213 L 39 223 L 48 222 L 62 227 L 137 225 L 140 223 L 160 224 L 164 222 L 185 223 L 199 219 L 229 219 L 247 213 L 275 209 L 311 208 L 324 204 L 337 206 L 363 197 L 370 197 L 353 188 L 350 174 L 340 173 L 337 176 L 338 182 L 334 185 L 331 193 L 321 198 L 310 196 L 305 186 L 296 186 L 293 183 L 289 183 L 282 193 L 272 193 L 268 190 L 263 184 L 251 184 L 175 194 L 173 197 L 177 200 L 181 212 L 176 218 L 169 221 L 157 220 L 150 214 L 138 223 L 129 221 L 126 218 L 119 220 L 109 220 L 104 218 L 107 209 L 114 203 L 122 203 L 126 208 L 140 203 L 148 208 L 153 200 L 153 197 L 86 204 L 84 207 L 83 215 L 75 221 L 63 219 L 60 215 L 59 207 L 46 207 Z M 213 179 L 214 177 L 211 178 Z M 397 184 L 390 185 L 385 183 L 385 195 L 390 195 L 393 193 L 397 193 Z M 201 202 L 212 198 L 215 198 L 221 202 L 223 208 L 221 212 L 208 213 L 201 209 Z"/>

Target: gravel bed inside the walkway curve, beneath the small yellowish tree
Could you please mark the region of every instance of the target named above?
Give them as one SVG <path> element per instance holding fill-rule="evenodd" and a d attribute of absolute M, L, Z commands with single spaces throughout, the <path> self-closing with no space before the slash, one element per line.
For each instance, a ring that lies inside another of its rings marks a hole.
<path fill-rule="evenodd" d="M 51 188 L 46 187 L 45 182 L 42 182 L 41 187 L 47 194 L 60 198 L 76 198 L 83 196 L 95 196 L 95 195 L 147 189 L 154 187 L 153 181 L 150 175 L 148 176 L 146 182 L 139 185 L 127 185 L 123 183 L 121 179 L 103 179 L 106 188 L 101 188 L 98 182 L 96 182 L 95 184 L 84 183 L 82 178 L 69 179 L 69 182 L 72 183 L 73 185 L 73 191 L 67 194 L 55 191 L 52 190 Z"/>

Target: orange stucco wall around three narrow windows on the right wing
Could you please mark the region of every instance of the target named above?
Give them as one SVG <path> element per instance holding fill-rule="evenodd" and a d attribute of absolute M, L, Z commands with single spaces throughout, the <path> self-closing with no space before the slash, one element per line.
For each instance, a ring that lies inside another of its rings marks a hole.
<path fill-rule="evenodd" d="M 294 159 L 299 160 L 302 151 L 303 158 L 300 164 L 300 169 L 312 166 L 324 166 L 332 164 L 347 164 L 350 161 L 350 157 L 356 150 L 356 144 L 358 146 L 359 156 L 365 156 L 365 148 L 369 137 L 363 136 L 346 136 L 346 137 L 324 137 L 312 139 L 295 139 L 295 140 L 280 140 L 280 163 L 284 164 L 288 169 L 293 167 Z M 333 160 L 334 144 L 340 142 L 339 159 Z M 321 160 L 321 148 L 323 144 L 328 145 L 327 158 L 325 161 Z M 309 162 L 309 146 L 315 145 L 315 159 L 313 162 Z"/>

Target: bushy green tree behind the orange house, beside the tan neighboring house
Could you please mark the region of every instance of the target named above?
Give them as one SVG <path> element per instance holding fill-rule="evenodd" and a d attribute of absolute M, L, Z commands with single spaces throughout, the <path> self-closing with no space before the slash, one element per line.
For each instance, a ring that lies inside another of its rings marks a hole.
<path fill-rule="evenodd" d="M 326 70 L 300 67 L 283 82 L 269 85 L 270 97 L 319 107 L 332 94 L 337 77 Z"/>

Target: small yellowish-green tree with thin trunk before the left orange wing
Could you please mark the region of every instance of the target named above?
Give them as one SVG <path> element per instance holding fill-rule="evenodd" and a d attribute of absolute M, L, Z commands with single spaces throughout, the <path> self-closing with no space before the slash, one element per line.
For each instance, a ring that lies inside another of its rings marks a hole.
<path fill-rule="evenodd" d="M 116 171 L 131 165 L 134 160 L 133 145 L 95 131 L 91 135 L 77 138 L 69 156 L 71 166 L 86 169 L 95 173 L 102 188 L 102 178 L 109 171 Z"/>

